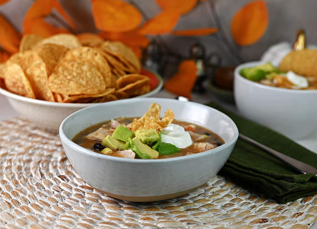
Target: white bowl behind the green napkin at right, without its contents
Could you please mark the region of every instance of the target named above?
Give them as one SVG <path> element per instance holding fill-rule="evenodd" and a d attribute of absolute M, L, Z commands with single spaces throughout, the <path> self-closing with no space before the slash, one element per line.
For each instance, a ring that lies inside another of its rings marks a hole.
<path fill-rule="evenodd" d="M 249 62 L 235 69 L 234 96 L 240 113 L 290 138 L 303 138 L 317 129 L 317 90 L 294 90 L 267 86 L 240 75 Z"/>

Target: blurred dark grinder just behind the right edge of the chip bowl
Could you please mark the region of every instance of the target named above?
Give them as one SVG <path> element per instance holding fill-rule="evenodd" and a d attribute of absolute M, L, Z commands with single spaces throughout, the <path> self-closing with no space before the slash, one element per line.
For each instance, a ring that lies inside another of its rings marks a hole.
<path fill-rule="evenodd" d="M 145 67 L 153 70 L 154 72 L 160 73 L 162 70 L 160 65 L 161 56 L 161 47 L 156 41 L 152 40 L 145 50 L 142 63 Z"/>

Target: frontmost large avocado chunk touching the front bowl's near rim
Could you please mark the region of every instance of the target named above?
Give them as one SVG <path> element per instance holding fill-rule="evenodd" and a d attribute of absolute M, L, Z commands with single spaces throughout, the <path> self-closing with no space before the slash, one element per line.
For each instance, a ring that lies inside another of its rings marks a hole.
<path fill-rule="evenodd" d="M 151 159 L 158 158 L 159 152 L 151 149 L 148 145 L 143 144 L 140 139 L 133 138 L 128 139 L 125 144 L 126 149 L 132 149 L 138 158 Z"/>

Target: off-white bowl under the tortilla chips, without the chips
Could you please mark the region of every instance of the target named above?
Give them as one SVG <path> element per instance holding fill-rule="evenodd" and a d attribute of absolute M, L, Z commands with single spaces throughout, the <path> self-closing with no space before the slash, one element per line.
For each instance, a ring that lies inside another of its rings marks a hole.
<path fill-rule="evenodd" d="M 147 70 L 147 69 L 146 69 Z M 150 70 L 147 70 L 150 71 Z M 158 93 L 163 86 L 163 79 L 156 76 L 159 84 L 152 91 L 138 97 L 150 97 Z M 0 88 L 0 94 L 7 97 L 10 105 L 24 119 L 35 123 L 38 127 L 58 132 L 61 122 L 70 114 L 96 103 L 57 103 L 39 99 L 30 99 Z"/>

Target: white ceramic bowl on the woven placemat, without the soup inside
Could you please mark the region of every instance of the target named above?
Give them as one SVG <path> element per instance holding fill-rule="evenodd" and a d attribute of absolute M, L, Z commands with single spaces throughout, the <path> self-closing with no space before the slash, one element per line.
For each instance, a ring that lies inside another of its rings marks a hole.
<path fill-rule="evenodd" d="M 225 144 L 193 155 L 146 160 L 99 154 L 71 141 L 81 130 L 111 118 L 140 117 L 152 103 L 162 105 L 162 116 L 171 108 L 175 119 L 203 126 L 222 137 Z M 87 107 L 68 116 L 59 133 L 69 161 L 89 185 L 129 201 L 165 200 L 199 187 L 223 167 L 238 137 L 236 124 L 220 111 L 159 98 L 124 99 Z"/>

